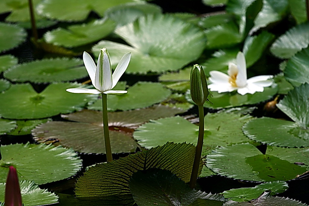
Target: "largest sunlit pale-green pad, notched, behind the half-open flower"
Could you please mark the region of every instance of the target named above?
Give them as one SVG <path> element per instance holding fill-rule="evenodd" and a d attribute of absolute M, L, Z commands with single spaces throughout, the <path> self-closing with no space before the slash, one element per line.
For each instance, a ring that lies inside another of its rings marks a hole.
<path fill-rule="evenodd" d="M 92 51 L 98 55 L 101 48 L 107 48 L 113 66 L 123 54 L 131 52 L 132 58 L 126 70 L 131 74 L 180 69 L 201 55 L 206 42 L 198 27 L 161 14 L 140 17 L 133 23 L 116 28 L 115 33 L 129 46 L 103 40 Z"/>

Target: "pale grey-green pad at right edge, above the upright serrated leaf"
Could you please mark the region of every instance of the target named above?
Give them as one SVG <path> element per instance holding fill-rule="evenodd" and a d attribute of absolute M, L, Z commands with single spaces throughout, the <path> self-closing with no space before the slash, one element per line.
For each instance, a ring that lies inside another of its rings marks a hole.
<path fill-rule="evenodd" d="M 271 53 L 281 59 L 290 58 L 309 44 L 309 23 L 289 29 L 270 47 Z"/>

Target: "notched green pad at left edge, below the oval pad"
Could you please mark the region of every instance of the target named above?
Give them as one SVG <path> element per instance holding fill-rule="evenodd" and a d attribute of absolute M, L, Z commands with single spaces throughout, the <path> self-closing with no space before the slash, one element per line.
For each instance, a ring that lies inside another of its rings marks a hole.
<path fill-rule="evenodd" d="M 0 94 L 0 115 L 9 119 L 40 119 L 82 109 L 96 95 L 71 94 L 73 83 L 50 84 L 37 93 L 29 83 L 14 84 Z"/>

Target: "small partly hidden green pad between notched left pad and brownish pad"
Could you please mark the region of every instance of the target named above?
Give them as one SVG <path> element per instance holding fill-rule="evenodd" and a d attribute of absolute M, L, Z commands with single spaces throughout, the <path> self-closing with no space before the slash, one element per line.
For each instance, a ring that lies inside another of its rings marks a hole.
<path fill-rule="evenodd" d="M 41 119 L 41 120 L 16 120 L 17 128 L 9 132 L 9 135 L 27 135 L 31 134 L 31 130 L 35 128 L 38 124 L 45 123 L 51 119 Z"/>

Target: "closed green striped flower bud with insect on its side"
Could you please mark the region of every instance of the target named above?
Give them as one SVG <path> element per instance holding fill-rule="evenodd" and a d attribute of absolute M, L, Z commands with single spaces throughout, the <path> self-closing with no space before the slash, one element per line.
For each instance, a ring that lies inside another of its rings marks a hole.
<path fill-rule="evenodd" d="M 197 105 L 203 105 L 208 101 L 209 94 L 206 77 L 203 68 L 196 64 L 193 65 L 190 74 L 191 98 Z"/>

